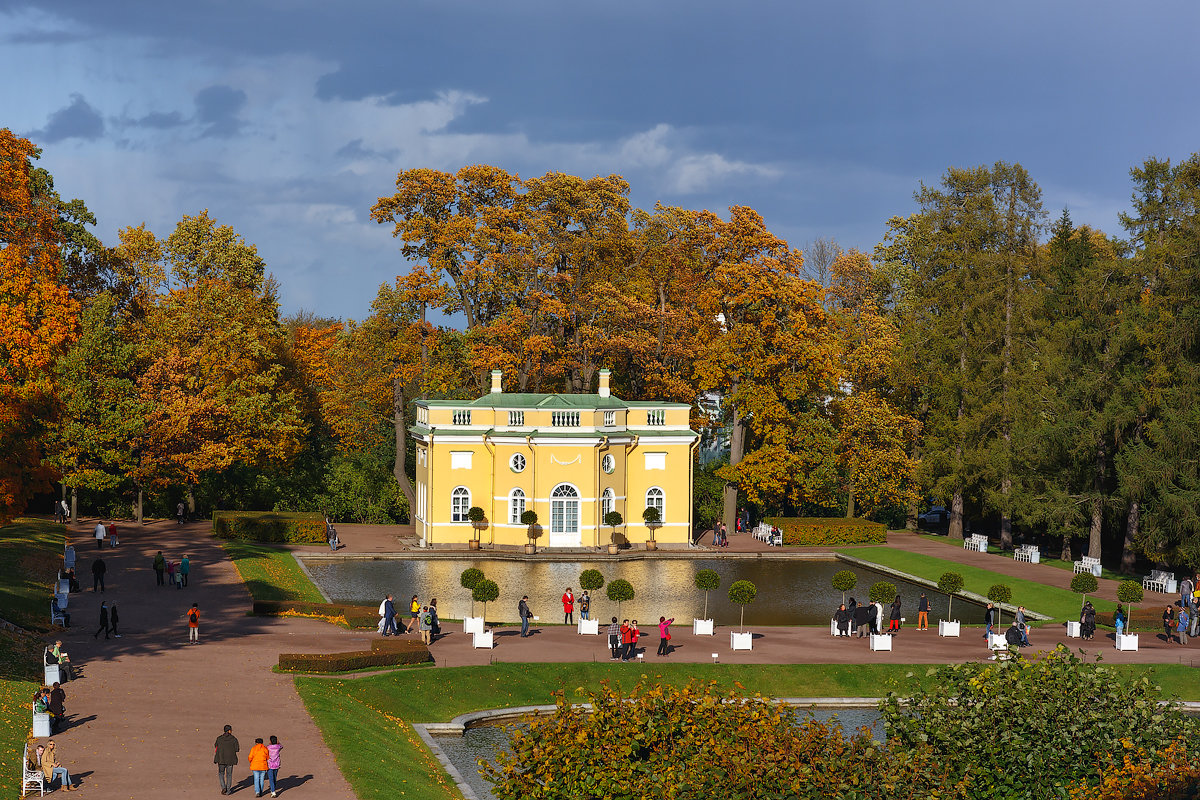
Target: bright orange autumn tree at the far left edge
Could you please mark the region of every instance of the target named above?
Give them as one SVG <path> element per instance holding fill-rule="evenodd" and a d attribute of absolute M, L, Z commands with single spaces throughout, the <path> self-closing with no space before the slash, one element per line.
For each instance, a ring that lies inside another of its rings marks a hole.
<path fill-rule="evenodd" d="M 48 487 L 42 437 L 58 413 L 54 363 L 78 330 L 60 276 L 55 210 L 34 203 L 37 149 L 0 128 L 0 522 Z"/>

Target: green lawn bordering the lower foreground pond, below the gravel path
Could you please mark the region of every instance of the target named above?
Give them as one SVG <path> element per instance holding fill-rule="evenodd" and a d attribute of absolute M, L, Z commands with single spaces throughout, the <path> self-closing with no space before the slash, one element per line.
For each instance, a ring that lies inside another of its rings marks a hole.
<path fill-rule="evenodd" d="M 691 679 L 740 684 L 746 693 L 769 697 L 883 697 L 929 681 L 926 664 L 506 664 L 397 669 L 359 680 L 295 680 L 305 706 L 322 729 L 342 774 L 361 800 L 461 796 L 433 754 L 412 729 L 416 722 L 448 722 L 482 709 L 544 705 L 563 688 L 572 702 L 610 680 L 623 690 L 638 680 L 683 685 Z M 1145 674 L 1141 666 L 1118 667 Z M 1182 666 L 1153 669 L 1164 696 L 1200 699 L 1195 670 Z"/>

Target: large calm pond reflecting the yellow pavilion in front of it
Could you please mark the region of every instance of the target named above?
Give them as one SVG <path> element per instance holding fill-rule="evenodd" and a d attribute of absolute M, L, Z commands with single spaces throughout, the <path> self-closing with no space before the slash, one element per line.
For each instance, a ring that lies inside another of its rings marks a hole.
<path fill-rule="evenodd" d="M 334 602 L 377 606 L 383 596 L 396 596 L 397 609 L 408 608 L 408 599 L 418 595 L 421 602 L 438 600 L 438 609 L 446 619 L 462 619 L 472 610 L 470 595 L 458 583 L 468 567 L 478 567 L 500 587 L 500 599 L 488 603 L 488 622 L 517 622 L 517 602 L 529 595 L 533 613 L 542 624 L 562 622 L 563 590 L 571 587 L 576 597 L 580 573 L 595 569 L 606 584 L 624 578 L 634 587 L 632 601 L 622 603 L 620 616 L 642 624 L 656 622 L 659 616 L 674 618 L 677 625 L 690 626 L 692 618 L 703 618 L 704 593 L 694 583 L 700 570 L 714 570 L 721 576 L 721 587 L 708 595 L 708 615 L 718 625 L 737 625 L 739 607 L 728 600 L 734 581 L 750 581 L 758 588 L 754 603 L 746 606 L 748 627 L 761 625 L 828 625 L 841 602 L 830 581 L 840 570 L 858 576 L 858 585 L 847 596 L 865 601 L 872 583 L 890 581 L 900 590 L 907 625 L 917 622 L 917 600 L 925 591 L 932 604 L 931 625 L 943 619 L 947 599 L 936 590 L 896 581 L 874 570 L 850 566 L 841 561 L 803 561 L 797 559 L 647 559 L 637 561 L 509 561 L 481 559 L 378 559 L 370 561 L 308 561 L 313 581 Z M 476 614 L 482 608 L 475 608 Z M 983 622 L 983 607 L 962 597 L 954 600 L 954 616 L 966 624 Z M 617 614 L 617 603 L 600 589 L 592 599 L 592 616 L 607 621 Z M 578 608 L 576 607 L 576 619 Z"/>

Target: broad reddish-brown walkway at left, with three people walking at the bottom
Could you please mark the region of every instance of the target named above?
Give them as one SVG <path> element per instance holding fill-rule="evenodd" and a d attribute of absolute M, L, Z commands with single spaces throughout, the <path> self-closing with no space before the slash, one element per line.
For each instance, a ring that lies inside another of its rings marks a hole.
<path fill-rule="evenodd" d="M 241 745 L 235 778 L 253 796 L 246 754 L 256 736 L 283 742 L 289 796 L 352 800 L 332 753 L 304 709 L 292 678 L 271 672 L 280 652 L 335 652 L 366 644 L 361 633 L 316 620 L 248 616 L 250 595 L 210 523 L 120 524 L 121 545 L 96 551 L 94 521 L 72 530 L 84 594 L 71 595 L 64 646 L 82 676 L 66 684 L 70 728 L 55 736 L 86 798 L 142 800 L 220 796 L 212 742 L 232 724 Z M 157 587 L 162 551 L 191 555 L 187 589 Z M 91 563 L 108 567 L 107 591 L 91 591 Z M 115 602 L 121 638 L 96 632 L 102 600 Z M 185 614 L 200 608 L 200 644 L 187 643 Z"/>

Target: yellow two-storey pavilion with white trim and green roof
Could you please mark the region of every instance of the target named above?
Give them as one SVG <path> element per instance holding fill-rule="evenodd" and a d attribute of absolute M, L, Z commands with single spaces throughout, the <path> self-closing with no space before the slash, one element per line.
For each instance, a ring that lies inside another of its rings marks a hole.
<path fill-rule="evenodd" d="M 421 545 L 464 545 L 475 536 L 472 506 L 487 516 L 485 543 L 524 545 L 521 515 L 538 513 L 539 547 L 604 547 L 619 511 L 617 540 L 642 545 L 655 506 L 660 545 L 690 541 L 692 450 L 698 435 L 684 403 L 622 401 L 601 369 L 595 395 L 508 393 L 499 369 L 472 402 L 418 401 L 416 509 Z"/>

